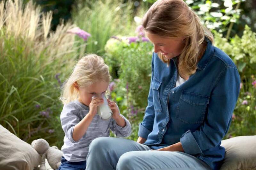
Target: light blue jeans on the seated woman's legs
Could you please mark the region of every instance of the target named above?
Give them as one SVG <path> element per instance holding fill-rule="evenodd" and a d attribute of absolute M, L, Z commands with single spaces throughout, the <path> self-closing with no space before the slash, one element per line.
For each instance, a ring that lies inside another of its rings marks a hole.
<path fill-rule="evenodd" d="M 150 147 L 124 138 L 99 137 L 92 141 L 86 170 L 210 170 L 210 166 L 184 152 L 150 151 Z"/>

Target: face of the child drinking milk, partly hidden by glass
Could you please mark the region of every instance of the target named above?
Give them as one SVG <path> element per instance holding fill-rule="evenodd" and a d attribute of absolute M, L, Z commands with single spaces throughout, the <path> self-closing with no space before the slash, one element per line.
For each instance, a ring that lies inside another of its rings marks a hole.
<path fill-rule="evenodd" d="M 108 83 L 104 81 L 98 81 L 88 87 L 78 87 L 79 101 L 86 106 L 89 106 L 92 101 L 92 96 L 101 96 L 108 89 Z"/>

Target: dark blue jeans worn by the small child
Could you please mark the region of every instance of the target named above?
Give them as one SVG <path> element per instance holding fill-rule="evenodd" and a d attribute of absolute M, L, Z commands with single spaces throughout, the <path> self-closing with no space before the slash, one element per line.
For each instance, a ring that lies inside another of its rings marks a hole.
<path fill-rule="evenodd" d="M 62 156 L 59 170 L 85 170 L 85 168 L 86 161 L 69 162 Z"/>

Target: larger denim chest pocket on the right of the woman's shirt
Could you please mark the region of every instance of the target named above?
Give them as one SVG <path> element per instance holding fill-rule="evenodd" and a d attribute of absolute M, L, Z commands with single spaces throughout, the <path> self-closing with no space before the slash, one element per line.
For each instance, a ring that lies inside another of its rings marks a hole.
<path fill-rule="evenodd" d="M 192 92 L 181 92 L 175 118 L 188 124 L 203 123 L 209 99 L 210 97 L 208 96 Z"/>

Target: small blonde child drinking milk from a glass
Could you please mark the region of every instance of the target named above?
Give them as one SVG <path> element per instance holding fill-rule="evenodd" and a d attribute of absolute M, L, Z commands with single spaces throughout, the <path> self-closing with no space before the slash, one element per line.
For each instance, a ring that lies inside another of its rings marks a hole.
<path fill-rule="evenodd" d="M 78 61 L 66 81 L 60 98 L 64 104 L 60 120 L 65 137 L 59 170 L 85 169 L 89 144 L 97 137 L 109 137 L 109 129 L 117 137 L 131 134 L 131 124 L 115 102 L 108 100 L 113 112 L 111 119 L 101 120 L 97 114 L 103 99 L 93 96 L 105 95 L 110 79 L 104 60 L 91 54 Z"/>

